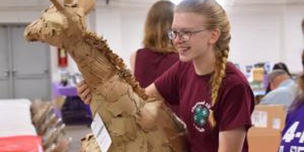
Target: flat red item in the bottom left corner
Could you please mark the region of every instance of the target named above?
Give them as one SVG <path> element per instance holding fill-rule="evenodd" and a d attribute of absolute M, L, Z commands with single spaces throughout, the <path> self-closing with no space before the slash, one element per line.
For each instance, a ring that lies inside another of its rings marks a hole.
<path fill-rule="evenodd" d="M 40 136 L 0 137 L 0 152 L 43 152 Z"/>

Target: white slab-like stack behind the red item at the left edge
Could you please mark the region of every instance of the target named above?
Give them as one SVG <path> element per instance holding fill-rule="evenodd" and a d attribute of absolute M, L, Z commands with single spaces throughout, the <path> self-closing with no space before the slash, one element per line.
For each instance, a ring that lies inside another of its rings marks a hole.
<path fill-rule="evenodd" d="M 28 99 L 0 99 L 0 137 L 37 135 Z"/>

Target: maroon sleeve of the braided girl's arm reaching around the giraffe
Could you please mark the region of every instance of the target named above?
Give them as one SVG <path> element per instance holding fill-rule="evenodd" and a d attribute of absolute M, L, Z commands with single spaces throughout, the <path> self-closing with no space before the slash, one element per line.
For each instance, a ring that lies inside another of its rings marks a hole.
<path fill-rule="evenodd" d="M 172 65 L 155 82 L 155 86 L 161 96 L 170 104 L 179 103 L 179 62 Z"/>

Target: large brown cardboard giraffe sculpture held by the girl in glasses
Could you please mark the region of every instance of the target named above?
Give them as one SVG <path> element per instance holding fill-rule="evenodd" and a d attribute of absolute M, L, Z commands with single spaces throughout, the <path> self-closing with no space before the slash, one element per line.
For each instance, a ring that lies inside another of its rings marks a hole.
<path fill-rule="evenodd" d="M 87 31 L 85 15 L 94 0 L 59 1 L 27 26 L 28 41 L 64 48 L 77 63 L 93 99 L 92 112 L 107 128 L 112 144 L 108 151 L 186 151 L 184 130 L 159 100 L 148 98 L 102 37 Z M 98 146 L 92 136 L 82 151 Z M 104 152 L 104 151 L 102 151 Z"/>

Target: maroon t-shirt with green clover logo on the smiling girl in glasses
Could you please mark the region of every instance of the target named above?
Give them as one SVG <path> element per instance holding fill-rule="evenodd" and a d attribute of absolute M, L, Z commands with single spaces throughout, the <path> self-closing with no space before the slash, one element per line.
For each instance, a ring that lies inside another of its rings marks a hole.
<path fill-rule="evenodd" d="M 243 73 L 233 63 L 227 63 L 214 107 L 211 107 L 210 78 L 211 73 L 196 74 L 192 62 L 178 61 L 155 82 L 167 102 L 179 104 L 179 116 L 187 125 L 192 152 L 217 151 L 220 131 L 251 127 L 254 96 Z M 213 130 L 208 122 L 211 108 L 217 123 Z M 243 151 L 248 151 L 247 138 Z"/>

